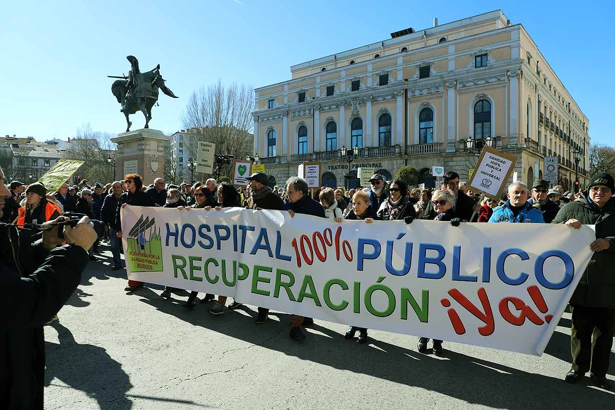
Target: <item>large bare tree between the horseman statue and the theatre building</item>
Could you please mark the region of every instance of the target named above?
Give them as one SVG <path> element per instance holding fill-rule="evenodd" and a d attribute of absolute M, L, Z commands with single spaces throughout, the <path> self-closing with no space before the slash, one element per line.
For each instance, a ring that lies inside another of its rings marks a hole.
<path fill-rule="evenodd" d="M 201 87 L 190 96 L 182 122 L 194 135 L 184 149 L 196 160 L 197 141 L 216 144 L 216 154 L 230 154 L 237 159 L 254 152 L 253 118 L 254 94 L 252 85 L 233 83 L 225 86 L 220 80 Z M 224 165 L 223 175 L 231 173 L 231 165 Z"/>

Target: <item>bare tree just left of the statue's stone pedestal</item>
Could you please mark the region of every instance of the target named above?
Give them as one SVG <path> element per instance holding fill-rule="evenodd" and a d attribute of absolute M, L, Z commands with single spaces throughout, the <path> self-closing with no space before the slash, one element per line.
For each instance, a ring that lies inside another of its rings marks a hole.
<path fill-rule="evenodd" d="M 113 168 L 107 157 L 113 157 L 117 148 L 116 144 L 111 142 L 111 137 L 111 133 L 93 131 L 89 123 L 82 124 L 66 149 L 65 158 L 84 160 L 77 174 L 91 183 L 112 182 Z"/>

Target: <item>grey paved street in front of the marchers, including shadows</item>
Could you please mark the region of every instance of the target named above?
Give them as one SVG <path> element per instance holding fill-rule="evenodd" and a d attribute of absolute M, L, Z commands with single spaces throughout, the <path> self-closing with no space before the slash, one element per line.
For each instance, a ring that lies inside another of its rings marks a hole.
<path fill-rule="evenodd" d="M 438 358 L 418 353 L 416 337 L 381 331 L 360 345 L 344 339 L 346 326 L 320 320 L 297 343 L 285 313 L 255 325 L 253 306 L 214 317 L 209 304 L 181 307 L 185 292 L 127 294 L 125 272 L 111 270 L 102 248 L 45 328 L 46 409 L 615 408 L 615 393 L 589 377 L 562 379 L 569 313 L 540 358 L 448 342 Z M 612 352 L 611 380 L 613 362 Z"/>

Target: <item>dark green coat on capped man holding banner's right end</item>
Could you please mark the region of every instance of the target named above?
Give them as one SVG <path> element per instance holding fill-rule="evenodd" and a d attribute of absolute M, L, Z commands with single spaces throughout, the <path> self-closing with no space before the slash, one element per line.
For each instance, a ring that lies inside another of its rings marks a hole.
<path fill-rule="evenodd" d="M 568 219 L 577 219 L 584 225 L 595 225 L 596 239 L 608 239 L 611 242 L 610 248 L 593 254 L 570 303 L 615 309 L 615 197 L 601 210 L 585 199 L 566 203 L 552 224 L 564 224 Z"/>

